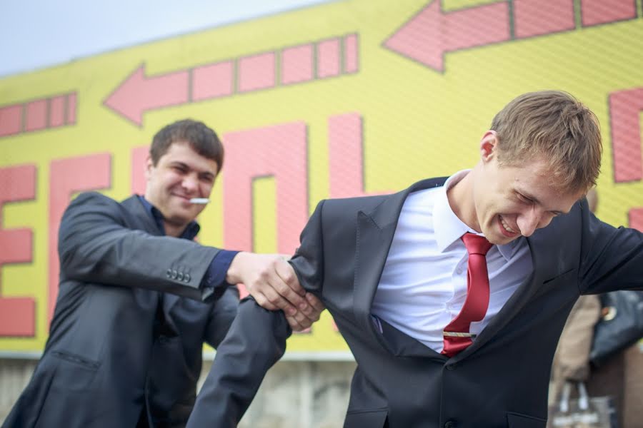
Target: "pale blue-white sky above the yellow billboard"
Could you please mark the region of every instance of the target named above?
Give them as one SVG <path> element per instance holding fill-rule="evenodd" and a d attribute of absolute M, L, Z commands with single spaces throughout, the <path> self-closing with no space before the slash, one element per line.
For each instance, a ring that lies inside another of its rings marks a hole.
<path fill-rule="evenodd" d="M 330 0 L 0 0 L 0 77 Z"/>

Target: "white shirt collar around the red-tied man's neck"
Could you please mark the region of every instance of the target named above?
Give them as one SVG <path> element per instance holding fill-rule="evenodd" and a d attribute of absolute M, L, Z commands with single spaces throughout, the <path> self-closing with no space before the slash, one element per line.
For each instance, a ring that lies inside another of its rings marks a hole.
<path fill-rule="evenodd" d="M 447 190 L 452 188 L 454 185 L 459 183 L 465 175 L 467 175 L 471 170 L 461 170 L 457 173 L 454 173 L 451 177 L 444 182 L 442 188 L 438 189 L 438 194 L 436 196 L 435 205 L 433 208 L 433 218 L 434 218 L 434 233 L 437 247 L 441 253 L 444 253 L 447 248 L 451 247 L 454 243 L 462 238 L 462 235 L 465 233 L 475 233 L 476 235 L 484 236 L 483 233 L 477 233 L 472 228 L 469 228 L 466 224 L 458 218 L 457 215 L 453 212 L 451 205 L 449 205 L 449 199 L 447 198 Z M 439 226 L 436 226 L 439 225 Z M 505 258 L 505 260 L 511 260 L 512 256 L 518 249 L 519 240 L 524 239 L 520 237 L 512 242 L 504 245 L 496 245 L 500 254 Z"/>

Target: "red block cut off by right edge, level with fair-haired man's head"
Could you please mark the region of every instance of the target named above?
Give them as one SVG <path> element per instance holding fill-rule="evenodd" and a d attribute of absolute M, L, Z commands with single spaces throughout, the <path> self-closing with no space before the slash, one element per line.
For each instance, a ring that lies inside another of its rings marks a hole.
<path fill-rule="evenodd" d="M 639 121 L 641 111 L 643 111 L 643 88 L 609 94 L 614 181 L 617 183 L 643 178 Z"/>

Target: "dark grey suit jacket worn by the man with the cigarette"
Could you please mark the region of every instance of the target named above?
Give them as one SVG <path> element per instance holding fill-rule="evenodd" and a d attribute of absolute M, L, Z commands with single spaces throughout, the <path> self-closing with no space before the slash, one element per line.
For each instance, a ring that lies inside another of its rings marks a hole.
<path fill-rule="evenodd" d="M 136 196 L 79 195 L 49 340 L 3 427 L 184 427 L 203 342 L 219 345 L 236 315 L 236 289 L 204 302 L 199 288 L 218 251 L 162 236 Z"/>

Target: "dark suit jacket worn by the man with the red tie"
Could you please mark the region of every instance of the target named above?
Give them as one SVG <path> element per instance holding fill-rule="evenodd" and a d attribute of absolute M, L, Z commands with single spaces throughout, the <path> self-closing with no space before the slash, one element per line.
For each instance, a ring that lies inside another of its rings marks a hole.
<path fill-rule="evenodd" d="M 358 364 L 344 427 L 544 428 L 549 370 L 569 311 L 580 294 L 641 287 L 642 235 L 612 228 L 577 203 L 527 240 L 533 274 L 473 345 L 448 358 L 386 322 L 380 332 L 370 316 L 405 198 L 443 183 L 322 201 L 301 233 L 291 264 Z M 280 312 L 242 302 L 188 427 L 235 427 L 289 333 Z"/>

